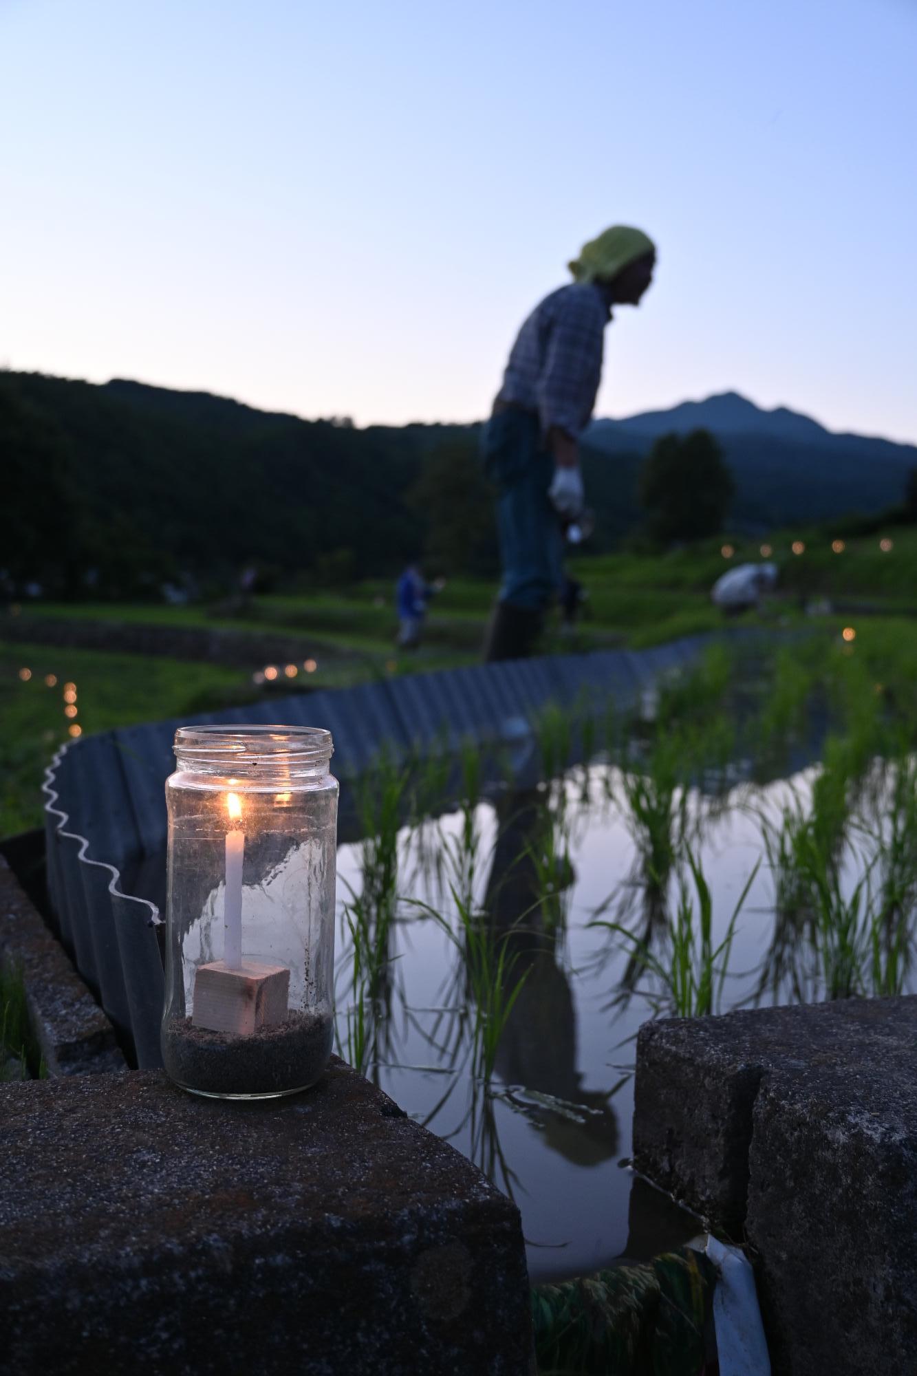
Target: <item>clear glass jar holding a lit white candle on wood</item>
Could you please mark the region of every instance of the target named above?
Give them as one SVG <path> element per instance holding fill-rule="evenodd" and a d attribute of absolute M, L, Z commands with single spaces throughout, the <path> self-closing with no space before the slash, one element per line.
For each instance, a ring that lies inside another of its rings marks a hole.
<path fill-rule="evenodd" d="M 310 727 L 179 727 L 162 1061 L 215 1098 L 295 1094 L 332 1050 L 337 780 Z"/>

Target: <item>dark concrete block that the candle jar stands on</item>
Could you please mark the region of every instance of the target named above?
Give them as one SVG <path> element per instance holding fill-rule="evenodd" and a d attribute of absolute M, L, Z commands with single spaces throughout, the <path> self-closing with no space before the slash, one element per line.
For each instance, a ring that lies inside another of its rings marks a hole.
<path fill-rule="evenodd" d="M 0 1163 L 1 1376 L 531 1372 L 518 1210 L 340 1061 L 3 1086 Z"/>

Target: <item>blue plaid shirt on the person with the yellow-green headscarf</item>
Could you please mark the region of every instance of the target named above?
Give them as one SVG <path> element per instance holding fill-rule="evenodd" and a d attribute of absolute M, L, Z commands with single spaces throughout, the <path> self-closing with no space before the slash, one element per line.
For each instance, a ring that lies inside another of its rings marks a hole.
<path fill-rule="evenodd" d="M 571 282 L 545 296 L 516 336 L 497 400 L 537 411 L 542 433 L 558 425 L 580 435 L 592 418 L 610 319 L 595 283 Z"/>

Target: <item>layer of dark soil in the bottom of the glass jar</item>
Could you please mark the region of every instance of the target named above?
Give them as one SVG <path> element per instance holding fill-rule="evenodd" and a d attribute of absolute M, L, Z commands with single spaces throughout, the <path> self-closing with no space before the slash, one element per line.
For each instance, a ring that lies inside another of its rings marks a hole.
<path fill-rule="evenodd" d="M 332 1020 L 318 1013 L 291 1011 L 285 1022 L 248 1036 L 173 1018 L 162 1026 L 162 1060 L 178 1084 L 201 1094 L 291 1094 L 315 1083 L 332 1042 Z"/>

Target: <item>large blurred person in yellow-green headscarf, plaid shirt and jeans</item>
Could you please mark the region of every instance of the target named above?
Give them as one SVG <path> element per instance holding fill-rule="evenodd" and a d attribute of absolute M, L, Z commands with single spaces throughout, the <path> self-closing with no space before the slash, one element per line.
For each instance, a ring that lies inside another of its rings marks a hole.
<path fill-rule="evenodd" d="M 584 509 L 578 439 L 602 378 L 604 326 L 613 305 L 640 304 L 655 245 L 642 230 L 615 224 L 569 267 L 574 281 L 545 296 L 523 322 L 483 428 L 503 564 L 486 660 L 531 654 L 562 586 L 563 531 Z"/>

